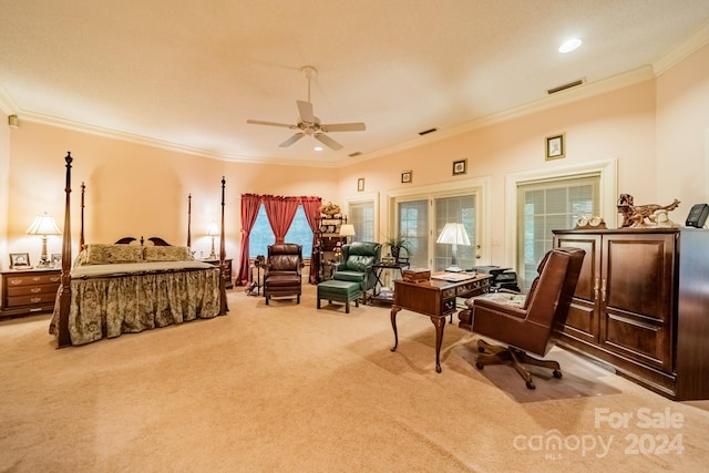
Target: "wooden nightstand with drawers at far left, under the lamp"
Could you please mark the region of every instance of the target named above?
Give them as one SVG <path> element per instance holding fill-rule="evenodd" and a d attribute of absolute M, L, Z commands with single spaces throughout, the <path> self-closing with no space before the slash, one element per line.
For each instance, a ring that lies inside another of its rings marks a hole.
<path fill-rule="evenodd" d="M 51 311 L 61 281 L 61 269 L 25 269 L 0 273 L 0 317 Z"/>

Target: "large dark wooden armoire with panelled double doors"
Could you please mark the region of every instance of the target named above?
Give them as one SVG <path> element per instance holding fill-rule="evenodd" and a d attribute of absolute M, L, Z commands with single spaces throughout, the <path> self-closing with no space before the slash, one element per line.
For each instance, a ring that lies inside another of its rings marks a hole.
<path fill-rule="evenodd" d="M 559 346 L 675 400 L 709 399 L 709 230 L 555 230 L 586 257 Z"/>

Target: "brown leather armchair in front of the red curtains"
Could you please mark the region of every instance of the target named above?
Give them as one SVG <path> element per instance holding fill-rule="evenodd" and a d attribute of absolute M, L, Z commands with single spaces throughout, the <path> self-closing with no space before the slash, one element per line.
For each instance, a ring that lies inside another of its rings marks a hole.
<path fill-rule="evenodd" d="M 266 305 L 275 297 L 296 297 L 300 304 L 302 294 L 302 246 L 292 243 L 268 246 L 264 271 L 264 297 Z"/>

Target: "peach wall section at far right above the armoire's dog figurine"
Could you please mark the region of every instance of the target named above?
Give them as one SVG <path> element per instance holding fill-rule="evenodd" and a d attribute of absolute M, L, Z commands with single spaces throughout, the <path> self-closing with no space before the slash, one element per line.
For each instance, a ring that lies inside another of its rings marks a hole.
<path fill-rule="evenodd" d="M 691 205 L 709 203 L 709 45 L 657 84 L 658 198 L 679 198 L 686 217 Z"/>

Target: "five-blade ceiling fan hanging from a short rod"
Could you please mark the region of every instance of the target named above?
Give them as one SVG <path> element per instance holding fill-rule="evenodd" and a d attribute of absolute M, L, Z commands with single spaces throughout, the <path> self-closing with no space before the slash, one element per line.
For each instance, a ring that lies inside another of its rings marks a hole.
<path fill-rule="evenodd" d="M 304 136 L 312 136 L 320 143 L 325 144 L 331 150 L 338 151 L 342 148 L 342 145 L 327 135 L 328 132 L 363 132 L 367 130 L 363 123 L 320 123 L 320 119 L 312 114 L 312 103 L 310 102 L 310 80 L 316 76 L 318 71 L 315 68 L 306 65 L 302 68 L 302 73 L 308 80 L 308 101 L 296 101 L 298 105 L 298 113 L 300 117 L 296 125 L 289 125 L 287 123 L 264 122 L 261 120 L 247 120 L 246 123 L 253 125 L 268 125 L 268 126 L 282 126 L 290 130 L 298 130 L 298 132 L 290 136 L 288 140 L 279 144 L 280 147 L 288 147 Z"/>

